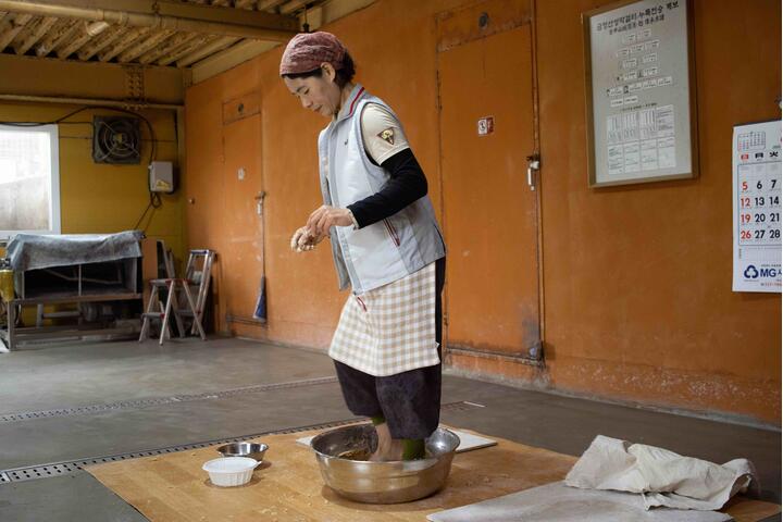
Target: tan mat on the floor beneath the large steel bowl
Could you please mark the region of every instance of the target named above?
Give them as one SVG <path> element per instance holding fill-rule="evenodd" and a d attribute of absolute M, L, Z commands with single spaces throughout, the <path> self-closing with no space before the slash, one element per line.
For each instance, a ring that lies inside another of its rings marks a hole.
<path fill-rule="evenodd" d="M 213 486 L 201 465 L 214 448 L 165 453 L 86 468 L 152 522 L 425 521 L 426 515 L 562 480 L 575 457 L 493 437 L 497 446 L 455 456 L 446 488 L 399 505 L 346 500 L 324 486 L 312 450 L 296 444 L 315 432 L 261 437 L 270 446 L 249 484 Z M 481 434 L 477 434 L 481 435 Z M 755 522 L 780 506 L 738 497 L 728 512 Z"/>

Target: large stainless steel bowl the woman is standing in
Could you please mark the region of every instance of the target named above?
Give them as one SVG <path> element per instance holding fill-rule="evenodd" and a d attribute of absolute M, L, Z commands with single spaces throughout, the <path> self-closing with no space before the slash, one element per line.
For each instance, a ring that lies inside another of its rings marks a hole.
<path fill-rule="evenodd" d="M 410 502 L 432 495 L 446 484 L 459 437 L 438 428 L 426 439 L 426 458 L 391 462 L 349 460 L 340 455 L 370 453 L 377 446 L 372 424 L 338 427 L 322 433 L 310 445 L 321 475 L 337 494 L 369 504 Z"/>

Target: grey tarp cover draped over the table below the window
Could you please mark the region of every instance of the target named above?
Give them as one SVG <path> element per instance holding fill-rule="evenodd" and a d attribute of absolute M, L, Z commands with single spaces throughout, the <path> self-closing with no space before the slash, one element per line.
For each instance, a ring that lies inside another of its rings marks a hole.
<path fill-rule="evenodd" d="M 141 231 L 119 234 L 17 234 L 5 249 L 14 271 L 140 258 Z"/>

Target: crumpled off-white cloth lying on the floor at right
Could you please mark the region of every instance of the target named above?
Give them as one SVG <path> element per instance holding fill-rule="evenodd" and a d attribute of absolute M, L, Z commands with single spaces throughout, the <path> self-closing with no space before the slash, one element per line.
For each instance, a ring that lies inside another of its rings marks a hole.
<path fill-rule="evenodd" d="M 638 493 L 645 508 L 714 510 L 755 478 L 753 464 L 735 459 L 723 465 L 667 449 L 598 435 L 566 476 L 587 489 Z"/>

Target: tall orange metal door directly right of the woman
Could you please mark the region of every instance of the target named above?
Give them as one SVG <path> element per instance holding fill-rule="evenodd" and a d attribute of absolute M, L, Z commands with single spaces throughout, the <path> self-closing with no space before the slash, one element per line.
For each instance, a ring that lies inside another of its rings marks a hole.
<path fill-rule="evenodd" d="M 439 29 L 438 48 L 447 348 L 537 356 L 537 192 L 527 184 L 534 152 L 530 16 L 489 30 L 492 11 L 480 5 L 439 23 L 451 27 L 445 36 L 448 30 Z"/>

